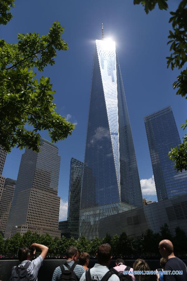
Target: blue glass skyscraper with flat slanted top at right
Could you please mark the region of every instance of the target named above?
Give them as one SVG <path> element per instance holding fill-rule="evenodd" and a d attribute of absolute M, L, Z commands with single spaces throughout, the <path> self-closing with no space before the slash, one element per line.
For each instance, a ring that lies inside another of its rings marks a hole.
<path fill-rule="evenodd" d="M 181 143 L 171 106 L 144 117 L 158 201 L 187 193 L 187 172 L 178 172 L 168 157 Z"/>

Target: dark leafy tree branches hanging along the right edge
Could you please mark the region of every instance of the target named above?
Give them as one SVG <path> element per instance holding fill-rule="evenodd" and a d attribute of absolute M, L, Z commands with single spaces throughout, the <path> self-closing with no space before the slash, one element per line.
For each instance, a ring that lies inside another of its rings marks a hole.
<path fill-rule="evenodd" d="M 142 4 L 145 12 L 148 14 L 152 11 L 156 4 L 159 9 L 168 9 L 168 0 L 134 0 L 134 4 Z M 167 67 L 180 70 L 179 76 L 173 82 L 173 89 L 176 89 L 176 94 L 187 99 L 187 0 L 180 2 L 175 12 L 170 12 L 171 17 L 169 22 L 172 24 L 173 30 L 169 31 L 170 56 L 166 57 Z M 183 130 L 187 127 L 187 120 L 181 124 Z M 187 170 L 187 135 L 183 137 L 184 141 L 179 147 L 171 148 L 169 157 L 175 162 L 177 171 Z"/>

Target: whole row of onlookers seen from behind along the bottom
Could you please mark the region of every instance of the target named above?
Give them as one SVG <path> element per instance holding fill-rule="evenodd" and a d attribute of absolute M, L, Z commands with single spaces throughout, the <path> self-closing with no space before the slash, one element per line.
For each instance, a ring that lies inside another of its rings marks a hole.
<path fill-rule="evenodd" d="M 33 259 L 36 248 L 41 251 L 41 254 Z M 37 281 L 38 271 L 47 252 L 48 247 L 36 243 L 32 244 L 30 249 L 26 247 L 19 249 L 18 259 L 21 263 L 12 268 L 10 280 Z M 162 256 L 161 269 L 155 269 L 156 280 L 187 281 L 187 267 L 181 259 L 175 257 L 170 240 L 162 240 L 159 243 L 159 252 Z M 80 253 L 79 256 L 79 251 L 74 246 L 67 249 L 66 259 L 64 264 L 54 270 L 52 281 L 144 281 L 150 279 L 149 265 L 143 259 L 135 260 L 132 268 L 126 265 L 123 259 L 117 259 L 115 267 L 109 269 L 112 249 L 108 243 L 99 246 L 97 263 L 92 268 L 89 268 L 89 254 Z M 78 259 L 79 263 L 77 263 Z M 167 274 L 169 272 L 170 274 Z"/>

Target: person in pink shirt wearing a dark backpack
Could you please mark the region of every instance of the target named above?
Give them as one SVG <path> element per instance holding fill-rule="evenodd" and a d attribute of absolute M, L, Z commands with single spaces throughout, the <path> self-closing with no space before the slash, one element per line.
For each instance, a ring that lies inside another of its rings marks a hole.
<path fill-rule="evenodd" d="M 116 266 L 114 267 L 114 269 L 117 270 L 120 281 L 135 281 L 134 274 L 131 273 L 128 273 L 126 275 L 123 274 L 124 271 L 129 271 L 129 272 L 133 271 L 133 268 L 125 265 L 123 259 L 117 259 L 115 264 Z"/>

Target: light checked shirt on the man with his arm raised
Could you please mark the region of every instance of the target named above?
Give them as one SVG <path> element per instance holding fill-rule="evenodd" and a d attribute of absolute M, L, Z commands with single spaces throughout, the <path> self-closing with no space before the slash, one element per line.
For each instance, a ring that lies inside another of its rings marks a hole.
<path fill-rule="evenodd" d="M 38 270 L 41 267 L 41 264 L 43 262 L 43 259 L 41 255 L 37 257 L 36 259 L 30 260 L 24 260 L 21 262 L 21 264 L 18 265 L 18 267 L 24 266 L 26 263 L 30 263 L 29 267 L 26 269 L 29 281 L 37 281 L 38 280 Z M 12 274 L 15 271 L 16 266 L 12 268 Z"/>

